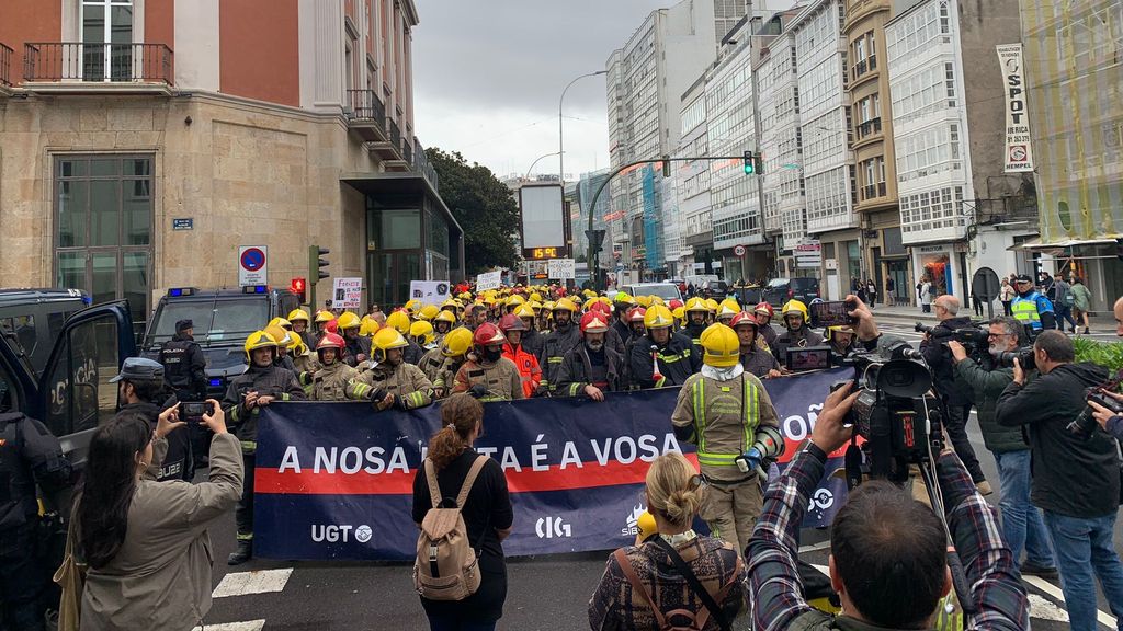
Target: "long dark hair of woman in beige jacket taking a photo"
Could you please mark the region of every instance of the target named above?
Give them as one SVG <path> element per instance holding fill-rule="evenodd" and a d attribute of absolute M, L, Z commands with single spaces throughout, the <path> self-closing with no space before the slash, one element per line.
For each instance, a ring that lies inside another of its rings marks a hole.
<path fill-rule="evenodd" d="M 137 451 L 152 440 L 152 426 L 138 412 L 125 412 L 98 428 L 79 486 L 77 538 L 92 568 L 113 560 L 125 542 L 129 505 L 137 490 Z"/>

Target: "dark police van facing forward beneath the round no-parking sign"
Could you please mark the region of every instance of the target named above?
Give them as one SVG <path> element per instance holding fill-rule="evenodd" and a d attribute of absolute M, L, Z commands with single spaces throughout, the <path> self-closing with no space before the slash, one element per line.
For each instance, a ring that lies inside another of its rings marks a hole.
<path fill-rule="evenodd" d="M 230 379 L 246 372 L 245 341 L 273 318 L 300 308 L 287 289 L 250 285 L 235 290 L 172 287 L 159 299 L 141 342 L 141 356 L 159 360 L 159 348 L 175 335 L 175 323 L 191 320 L 194 339 L 207 357 L 207 393 L 221 399 Z"/>

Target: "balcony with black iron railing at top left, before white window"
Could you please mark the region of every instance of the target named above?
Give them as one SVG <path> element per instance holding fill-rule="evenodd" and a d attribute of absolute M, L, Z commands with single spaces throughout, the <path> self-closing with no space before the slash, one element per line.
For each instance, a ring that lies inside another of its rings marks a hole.
<path fill-rule="evenodd" d="M 165 44 L 24 45 L 24 88 L 37 92 L 172 93 L 172 49 Z"/>

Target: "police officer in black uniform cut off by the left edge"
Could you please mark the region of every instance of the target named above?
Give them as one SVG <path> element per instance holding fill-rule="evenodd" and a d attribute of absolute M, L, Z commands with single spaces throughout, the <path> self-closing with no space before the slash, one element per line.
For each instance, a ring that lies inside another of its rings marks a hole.
<path fill-rule="evenodd" d="M 0 410 L 0 629 L 44 629 L 40 601 L 51 575 L 36 557 L 35 486 L 56 491 L 70 483 L 71 464 L 58 439 L 39 421 Z"/>

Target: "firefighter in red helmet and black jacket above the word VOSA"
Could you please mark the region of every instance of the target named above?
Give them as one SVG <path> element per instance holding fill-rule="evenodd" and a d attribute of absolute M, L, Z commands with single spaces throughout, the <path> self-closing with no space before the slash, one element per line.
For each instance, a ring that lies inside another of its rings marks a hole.
<path fill-rule="evenodd" d="M 603 313 L 590 311 L 581 319 L 582 344 L 566 353 L 558 373 L 558 392 L 604 401 L 605 392 L 623 390 L 623 357 L 605 340 L 609 323 Z"/>

